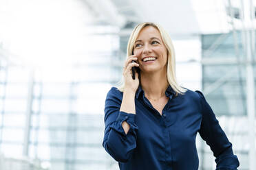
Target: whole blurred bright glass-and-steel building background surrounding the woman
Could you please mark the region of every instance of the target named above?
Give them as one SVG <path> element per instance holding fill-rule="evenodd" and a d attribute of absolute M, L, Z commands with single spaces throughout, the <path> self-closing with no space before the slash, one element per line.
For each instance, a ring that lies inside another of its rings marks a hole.
<path fill-rule="evenodd" d="M 235 30 L 245 26 L 243 2 L 0 1 L 0 170 L 117 170 L 102 147 L 105 97 L 122 77 L 131 29 L 151 19 L 175 37 L 178 82 L 202 90 L 248 170 L 246 40 Z M 215 170 L 196 140 L 199 169 Z"/>

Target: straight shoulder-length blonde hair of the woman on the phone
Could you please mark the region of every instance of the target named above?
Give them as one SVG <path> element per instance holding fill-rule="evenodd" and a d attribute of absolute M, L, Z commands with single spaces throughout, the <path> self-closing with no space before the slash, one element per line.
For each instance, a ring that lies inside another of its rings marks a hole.
<path fill-rule="evenodd" d="M 173 43 L 171 42 L 171 38 L 169 34 L 158 24 L 156 23 L 139 23 L 131 32 L 131 36 L 128 41 L 127 45 L 127 58 L 132 55 L 134 51 L 134 43 L 136 39 L 138 38 L 138 34 L 140 34 L 141 29 L 147 26 L 152 26 L 158 29 L 160 32 L 160 35 L 162 37 L 162 40 L 164 42 L 165 47 L 167 48 L 167 82 L 173 88 L 173 90 L 176 92 L 176 95 L 182 94 L 186 92 L 186 88 L 182 88 L 178 85 L 176 74 L 175 74 L 175 53 L 173 48 Z M 125 88 L 125 83 L 122 80 L 118 82 L 118 90 L 123 91 Z"/>

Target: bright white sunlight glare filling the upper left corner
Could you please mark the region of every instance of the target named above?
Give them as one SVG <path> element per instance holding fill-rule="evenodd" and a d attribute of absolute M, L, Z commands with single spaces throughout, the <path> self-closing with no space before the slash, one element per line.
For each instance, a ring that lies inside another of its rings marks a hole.
<path fill-rule="evenodd" d="M 58 66 L 79 60 L 85 24 L 91 17 L 74 0 L 0 2 L 0 42 L 32 66 Z"/>

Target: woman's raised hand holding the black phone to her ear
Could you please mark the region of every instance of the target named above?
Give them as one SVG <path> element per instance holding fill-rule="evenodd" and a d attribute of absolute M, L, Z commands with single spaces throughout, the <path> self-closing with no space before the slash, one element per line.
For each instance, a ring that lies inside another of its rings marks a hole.
<path fill-rule="evenodd" d="M 125 90 L 131 90 L 131 92 L 136 93 L 136 90 L 139 85 L 139 79 L 138 79 L 138 73 L 135 71 L 135 80 L 132 79 L 131 76 L 131 68 L 133 66 L 139 66 L 136 62 L 131 62 L 132 60 L 137 61 L 138 55 L 131 55 L 127 58 L 125 61 L 125 66 L 122 71 L 122 75 L 124 76 L 124 82 L 125 82 Z"/>

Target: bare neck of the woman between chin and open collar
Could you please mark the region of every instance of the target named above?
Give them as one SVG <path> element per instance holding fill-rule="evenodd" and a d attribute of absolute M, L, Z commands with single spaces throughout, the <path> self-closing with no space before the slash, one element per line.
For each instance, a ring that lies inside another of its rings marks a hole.
<path fill-rule="evenodd" d="M 162 73 L 141 73 L 140 84 L 146 97 L 158 100 L 165 95 L 169 86 L 166 71 Z"/>

